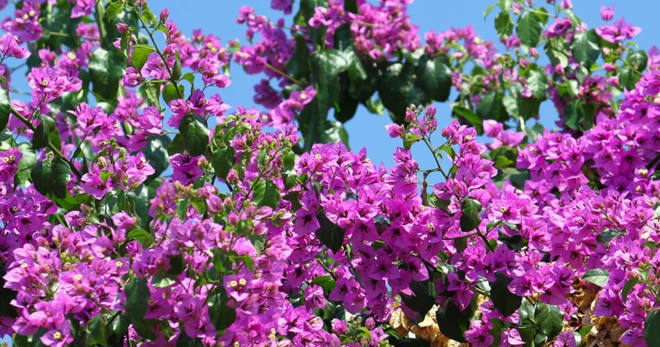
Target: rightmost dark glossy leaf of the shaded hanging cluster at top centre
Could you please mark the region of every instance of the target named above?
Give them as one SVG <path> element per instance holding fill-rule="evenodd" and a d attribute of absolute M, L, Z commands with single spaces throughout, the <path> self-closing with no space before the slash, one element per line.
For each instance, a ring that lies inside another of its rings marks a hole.
<path fill-rule="evenodd" d="M 422 56 L 417 67 L 417 84 L 436 101 L 447 101 L 452 90 L 452 70 L 446 56 L 431 60 Z"/>

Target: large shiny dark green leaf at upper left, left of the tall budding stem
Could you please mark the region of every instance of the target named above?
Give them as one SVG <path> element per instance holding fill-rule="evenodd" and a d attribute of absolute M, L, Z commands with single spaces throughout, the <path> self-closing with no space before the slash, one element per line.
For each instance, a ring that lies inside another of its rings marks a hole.
<path fill-rule="evenodd" d="M 90 59 L 90 81 L 94 94 L 106 101 L 116 101 L 119 80 L 124 76 L 126 61 L 121 51 L 96 49 Z"/>

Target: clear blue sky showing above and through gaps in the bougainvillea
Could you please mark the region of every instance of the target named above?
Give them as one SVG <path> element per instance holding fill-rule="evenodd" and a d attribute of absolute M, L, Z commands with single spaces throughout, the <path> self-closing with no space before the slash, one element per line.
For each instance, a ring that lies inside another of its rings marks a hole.
<path fill-rule="evenodd" d="M 545 1 L 537 0 L 539 3 Z M 298 1 L 296 1 L 298 2 Z M 494 14 L 484 21 L 483 12 L 495 0 L 417 0 L 409 6 L 412 22 L 420 26 L 420 33 L 429 30 L 445 31 L 449 27 L 474 26 L 482 38 L 497 41 L 497 34 L 493 27 Z M 654 33 L 660 33 L 660 21 L 657 14 L 660 13 L 660 1 L 594 1 L 573 0 L 575 12 L 581 19 L 591 27 L 602 25 L 600 19 L 601 5 L 614 5 L 616 17 L 623 16 L 628 22 L 643 28 L 643 31 L 635 39 L 635 42 L 643 49 L 649 49 L 653 44 L 660 46 L 660 40 L 654 38 Z M 223 43 L 229 39 L 239 39 L 245 42 L 245 26 L 236 23 L 238 9 L 243 5 L 256 8 L 256 12 L 266 15 L 273 21 L 282 17 L 281 12 L 270 9 L 270 0 L 151 0 L 149 5 L 154 13 L 160 12 L 162 8 L 170 9 L 170 17 L 181 28 L 185 35 L 190 35 L 195 28 L 201 28 L 204 33 L 213 33 L 219 36 Z M 9 8 L 10 6 L 8 6 Z M 10 15 L 7 9 L 0 12 L 0 18 Z M 291 16 L 287 18 L 288 23 Z M 501 47 L 501 45 L 499 45 Z M 19 74 L 17 71 L 16 74 Z M 262 75 L 249 76 L 242 68 L 233 63 L 231 69 L 232 84 L 230 87 L 220 90 L 220 94 L 226 103 L 230 105 L 254 105 L 252 86 L 258 83 Z M 15 76 L 16 87 L 25 89 L 22 78 Z M 453 100 L 455 94 L 449 97 Z M 556 112 L 550 101 L 544 103 L 541 108 L 541 123 L 546 128 L 553 128 L 556 120 Z M 445 126 L 450 120 L 448 103 L 436 103 L 438 107 L 439 126 Z M 392 153 L 397 146 L 401 146 L 398 139 L 390 139 L 384 126 L 390 123 L 388 115 L 372 115 L 364 108 L 359 108 L 356 116 L 345 124 L 349 132 L 349 141 L 352 149 L 357 151 L 366 147 L 368 155 L 374 162 L 384 162 L 393 165 Z M 415 158 L 424 164 L 431 164 L 431 156 L 422 146 L 413 146 Z"/>

